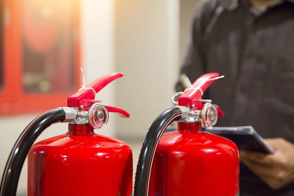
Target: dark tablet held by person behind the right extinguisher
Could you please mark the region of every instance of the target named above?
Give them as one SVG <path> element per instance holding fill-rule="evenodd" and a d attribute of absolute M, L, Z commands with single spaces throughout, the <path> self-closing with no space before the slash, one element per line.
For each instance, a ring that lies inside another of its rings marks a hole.
<path fill-rule="evenodd" d="M 204 131 L 220 135 L 233 141 L 239 149 L 272 154 L 274 150 L 252 126 L 230 126 L 203 128 Z"/>

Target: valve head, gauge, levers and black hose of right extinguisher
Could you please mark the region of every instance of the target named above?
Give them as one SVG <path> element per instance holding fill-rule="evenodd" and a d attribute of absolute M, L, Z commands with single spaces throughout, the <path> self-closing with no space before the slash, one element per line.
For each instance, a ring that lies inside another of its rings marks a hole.
<path fill-rule="evenodd" d="M 206 73 L 199 77 L 184 92 L 178 92 L 172 97 L 175 107 L 160 114 L 149 127 L 137 165 L 134 196 L 148 196 L 152 164 L 156 148 L 165 129 L 173 121 L 181 123 L 203 123 L 210 127 L 215 125 L 218 116 L 223 112 L 211 100 L 202 99 L 204 91 L 211 83 L 221 78 L 219 73 Z"/>

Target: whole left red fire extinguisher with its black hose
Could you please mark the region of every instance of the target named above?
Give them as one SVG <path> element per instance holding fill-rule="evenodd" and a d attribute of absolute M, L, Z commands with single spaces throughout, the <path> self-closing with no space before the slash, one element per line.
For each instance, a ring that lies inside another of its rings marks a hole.
<path fill-rule="evenodd" d="M 124 142 L 94 133 L 108 121 L 108 112 L 123 109 L 101 105 L 96 93 L 122 73 L 102 76 L 67 99 L 68 107 L 41 114 L 16 141 L 3 172 L 0 196 L 15 196 L 28 154 L 28 196 L 130 196 L 132 151 Z M 69 123 L 66 134 L 33 145 L 53 123 Z"/>

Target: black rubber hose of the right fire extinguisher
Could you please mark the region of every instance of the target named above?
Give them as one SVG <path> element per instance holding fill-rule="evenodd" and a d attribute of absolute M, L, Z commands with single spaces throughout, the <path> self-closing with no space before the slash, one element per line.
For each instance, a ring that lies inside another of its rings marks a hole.
<path fill-rule="evenodd" d="M 172 107 L 159 115 L 149 127 L 137 165 L 134 196 L 148 196 L 152 163 L 159 140 L 169 124 L 181 117 L 182 111 Z"/>

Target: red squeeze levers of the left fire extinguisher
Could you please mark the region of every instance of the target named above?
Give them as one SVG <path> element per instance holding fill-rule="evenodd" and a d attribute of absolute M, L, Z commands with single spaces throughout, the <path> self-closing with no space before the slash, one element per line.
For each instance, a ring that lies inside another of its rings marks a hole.
<path fill-rule="evenodd" d="M 78 92 L 73 94 L 67 99 L 68 107 L 77 107 L 78 110 L 88 111 L 90 106 L 95 102 L 95 95 L 103 89 L 107 84 L 113 80 L 122 77 L 123 73 L 110 73 L 103 75 L 102 77 L 96 79 L 90 84 L 86 85 L 84 88 L 79 89 Z M 105 106 L 108 112 L 116 112 L 121 114 L 122 117 L 129 117 L 129 113 L 125 110 L 117 107 Z"/>

